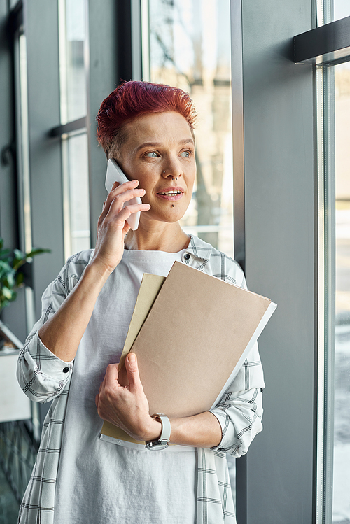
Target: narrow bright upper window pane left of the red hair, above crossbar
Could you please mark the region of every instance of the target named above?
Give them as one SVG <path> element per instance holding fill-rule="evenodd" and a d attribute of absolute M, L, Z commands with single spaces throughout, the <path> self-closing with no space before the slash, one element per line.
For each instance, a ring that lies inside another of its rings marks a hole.
<path fill-rule="evenodd" d="M 84 48 L 85 0 L 59 2 L 59 62 L 62 124 L 87 113 Z"/>

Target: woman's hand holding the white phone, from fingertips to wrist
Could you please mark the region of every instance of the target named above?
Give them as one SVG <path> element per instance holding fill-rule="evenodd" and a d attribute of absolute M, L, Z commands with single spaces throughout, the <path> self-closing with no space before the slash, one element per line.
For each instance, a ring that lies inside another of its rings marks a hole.
<path fill-rule="evenodd" d="M 99 264 L 103 270 L 111 273 L 123 257 L 124 237 L 130 230 L 126 222 L 132 213 L 148 211 L 149 204 L 132 204 L 123 208 L 124 202 L 134 197 L 144 197 L 145 190 L 137 189 L 139 180 L 130 180 L 118 185 L 113 184 L 99 220 L 97 222 L 97 240 L 91 264 Z"/>

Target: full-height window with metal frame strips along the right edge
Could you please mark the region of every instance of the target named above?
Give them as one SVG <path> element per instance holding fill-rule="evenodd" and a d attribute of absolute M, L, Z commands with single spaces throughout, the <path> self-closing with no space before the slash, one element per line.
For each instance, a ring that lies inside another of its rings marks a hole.
<path fill-rule="evenodd" d="M 349 35 L 350 25 L 350 19 L 339 19 L 350 11 L 341 0 L 335 1 L 334 13 L 332 7 L 328 1 L 318 2 L 319 29 L 309 33 L 314 32 L 314 52 L 319 51 L 305 60 L 316 63 L 317 83 L 316 522 L 320 524 L 350 522 L 350 39 L 339 42 L 339 34 Z"/>

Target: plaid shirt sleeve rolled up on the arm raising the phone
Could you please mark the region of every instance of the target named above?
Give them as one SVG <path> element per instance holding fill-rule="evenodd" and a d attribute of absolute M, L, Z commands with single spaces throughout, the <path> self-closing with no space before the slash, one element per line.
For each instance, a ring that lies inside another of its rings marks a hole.
<path fill-rule="evenodd" d="M 44 403 L 55 399 L 70 381 L 73 361 L 64 362 L 46 348 L 38 336 L 38 330 L 59 309 L 78 282 L 87 262 L 88 258 L 86 260 L 82 253 L 67 260 L 55 281 L 43 292 L 41 318 L 34 325 L 20 351 L 18 382 L 27 397 L 36 402 Z"/>

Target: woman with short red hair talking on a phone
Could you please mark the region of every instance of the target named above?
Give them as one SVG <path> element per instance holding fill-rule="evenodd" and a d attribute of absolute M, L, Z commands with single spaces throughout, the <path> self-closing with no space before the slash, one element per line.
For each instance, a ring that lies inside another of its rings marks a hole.
<path fill-rule="evenodd" d="M 225 451 L 246 453 L 262 429 L 256 346 L 215 409 L 170 420 L 170 441 L 183 451 L 99 439 L 101 419 L 142 441 L 162 432 L 148 413 L 133 353 L 125 362 L 129 385 L 118 382 L 116 362 L 144 272 L 166 276 L 179 260 L 245 285 L 232 259 L 179 225 L 195 182 L 194 119 L 188 94 L 164 85 L 124 83 L 102 103 L 99 143 L 130 181 L 115 183 L 104 202 L 95 249 L 73 255 L 43 294 L 43 314 L 20 355 L 23 390 L 34 400 L 54 399 L 20 523 L 235 523 Z M 123 208 L 133 197 L 142 204 Z M 126 220 L 139 211 L 132 231 Z M 176 311 L 165 330 L 170 322 Z"/>

